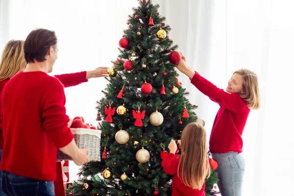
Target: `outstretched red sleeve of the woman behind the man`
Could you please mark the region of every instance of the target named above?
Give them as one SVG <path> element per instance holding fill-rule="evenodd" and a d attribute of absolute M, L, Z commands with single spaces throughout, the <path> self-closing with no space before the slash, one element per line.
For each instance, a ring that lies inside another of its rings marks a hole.
<path fill-rule="evenodd" d="M 64 87 L 76 86 L 80 83 L 87 82 L 86 79 L 87 72 L 78 72 L 78 73 L 66 73 L 61 75 L 54 75 L 57 77 Z"/>

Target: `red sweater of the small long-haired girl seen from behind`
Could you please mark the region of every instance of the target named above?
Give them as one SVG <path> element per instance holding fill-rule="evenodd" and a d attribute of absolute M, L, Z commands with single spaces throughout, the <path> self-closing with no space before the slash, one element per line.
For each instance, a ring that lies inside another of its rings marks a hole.
<path fill-rule="evenodd" d="M 201 190 L 192 189 L 186 186 L 177 174 L 177 168 L 180 162 L 180 155 L 169 153 L 163 170 L 172 177 L 172 196 L 205 196 L 205 182 Z"/>

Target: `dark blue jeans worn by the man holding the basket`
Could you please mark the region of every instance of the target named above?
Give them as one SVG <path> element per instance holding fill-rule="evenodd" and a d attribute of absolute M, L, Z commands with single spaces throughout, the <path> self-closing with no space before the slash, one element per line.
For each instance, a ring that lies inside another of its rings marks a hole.
<path fill-rule="evenodd" d="M 53 181 L 2 172 L 2 189 L 8 196 L 55 196 Z"/>

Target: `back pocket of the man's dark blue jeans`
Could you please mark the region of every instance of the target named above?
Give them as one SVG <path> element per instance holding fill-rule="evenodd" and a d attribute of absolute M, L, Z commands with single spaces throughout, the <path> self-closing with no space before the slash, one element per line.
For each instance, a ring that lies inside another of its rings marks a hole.
<path fill-rule="evenodd" d="M 14 196 L 38 196 L 39 182 L 10 182 Z"/>

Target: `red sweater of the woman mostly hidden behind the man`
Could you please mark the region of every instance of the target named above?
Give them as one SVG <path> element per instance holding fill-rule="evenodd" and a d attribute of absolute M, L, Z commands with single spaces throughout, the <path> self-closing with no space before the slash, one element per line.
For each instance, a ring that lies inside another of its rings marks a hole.
<path fill-rule="evenodd" d="M 67 73 L 67 74 L 61 74 L 61 75 L 54 75 L 57 77 L 61 83 L 64 85 L 64 87 L 71 87 L 78 85 L 83 82 L 87 82 L 86 79 L 87 72 L 78 72 L 78 73 Z M 5 86 L 5 84 L 9 81 L 9 78 L 6 78 L 4 80 L 0 81 L 0 96 L 2 94 L 2 90 Z M 0 106 L 1 109 L 1 106 Z M 1 123 L 1 120 L 0 120 Z M 3 136 L 2 136 L 2 129 L 0 127 L 0 149 L 3 149 Z"/>

